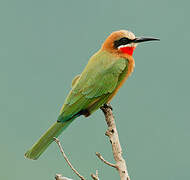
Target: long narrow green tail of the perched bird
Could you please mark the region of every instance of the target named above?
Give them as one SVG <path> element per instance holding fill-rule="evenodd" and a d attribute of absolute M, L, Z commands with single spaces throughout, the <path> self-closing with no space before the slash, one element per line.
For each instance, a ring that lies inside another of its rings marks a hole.
<path fill-rule="evenodd" d="M 25 157 L 34 160 L 38 159 L 47 147 L 54 141 L 53 137 L 58 137 L 74 119 L 75 118 L 65 122 L 54 123 L 32 146 L 32 148 L 25 153 Z"/>

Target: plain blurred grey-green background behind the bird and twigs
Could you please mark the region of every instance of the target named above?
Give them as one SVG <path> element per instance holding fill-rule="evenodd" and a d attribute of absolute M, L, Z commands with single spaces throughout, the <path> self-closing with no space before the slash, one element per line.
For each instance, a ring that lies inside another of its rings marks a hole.
<path fill-rule="evenodd" d="M 135 71 L 112 101 L 132 180 L 190 179 L 189 1 L 1 0 L 0 179 L 78 179 L 53 143 L 37 161 L 25 151 L 57 119 L 79 74 L 115 30 L 160 38 L 134 53 Z M 62 134 L 65 153 L 90 179 L 119 179 L 99 110 Z"/>

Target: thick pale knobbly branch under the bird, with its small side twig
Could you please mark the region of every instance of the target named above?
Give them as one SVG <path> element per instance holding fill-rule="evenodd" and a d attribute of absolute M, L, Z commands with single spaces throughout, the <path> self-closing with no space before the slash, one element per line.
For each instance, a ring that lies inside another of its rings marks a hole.
<path fill-rule="evenodd" d="M 116 161 L 116 164 L 111 164 L 107 161 L 105 161 L 102 157 L 100 158 L 105 164 L 115 167 L 120 175 L 120 179 L 121 180 L 130 180 L 128 171 L 127 171 L 127 166 L 126 166 L 126 162 L 122 157 L 122 148 L 119 142 L 119 136 L 117 133 L 117 129 L 116 129 L 116 124 L 115 124 L 115 120 L 114 120 L 114 116 L 112 113 L 112 107 L 110 105 L 105 104 L 104 106 L 102 106 L 100 108 L 104 115 L 105 115 L 105 120 L 106 123 L 108 125 L 108 129 L 106 131 L 106 136 L 109 137 L 110 139 L 110 143 L 112 145 L 112 152 L 113 152 L 113 156 L 114 159 Z"/>

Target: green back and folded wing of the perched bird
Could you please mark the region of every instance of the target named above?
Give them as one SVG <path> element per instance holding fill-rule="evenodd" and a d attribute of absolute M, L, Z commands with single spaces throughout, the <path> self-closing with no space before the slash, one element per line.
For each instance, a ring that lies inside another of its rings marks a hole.
<path fill-rule="evenodd" d="M 61 109 L 59 120 L 68 120 L 96 99 L 111 94 L 127 65 L 126 59 L 116 58 L 105 51 L 97 52 L 77 77 Z"/>

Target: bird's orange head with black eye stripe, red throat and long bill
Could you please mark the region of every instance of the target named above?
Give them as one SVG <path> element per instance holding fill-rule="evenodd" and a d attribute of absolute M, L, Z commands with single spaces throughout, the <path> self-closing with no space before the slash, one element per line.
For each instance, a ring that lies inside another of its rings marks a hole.
<path fill-rule="evenodd" d="M 103 50 L 120 55 L 133 55 L 133 51 L 140 42 L 159 41 L 157 38 L 136 38 L 135 35 L 127 30 L 120 30 L 111 33 L 102 45 Z"/>

